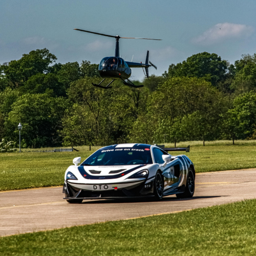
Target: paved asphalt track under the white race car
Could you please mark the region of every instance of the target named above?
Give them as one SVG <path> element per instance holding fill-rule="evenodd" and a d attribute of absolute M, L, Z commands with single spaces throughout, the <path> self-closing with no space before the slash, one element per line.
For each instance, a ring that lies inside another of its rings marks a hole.
<path fill-rule="evenodd" d="M 88 200 L 69 204 L 62 187 L 0 191 L 0 236 L 190 210 L 256 198 L 256 168 L 196 175 L 191 199 Z"/>

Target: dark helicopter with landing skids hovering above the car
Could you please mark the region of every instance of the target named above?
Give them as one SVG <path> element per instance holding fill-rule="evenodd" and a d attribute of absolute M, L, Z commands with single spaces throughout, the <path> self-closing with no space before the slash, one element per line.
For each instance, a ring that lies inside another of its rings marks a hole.
<path fill-rule="evenodd" d="M 152 39 L 152 38 L 136 38 L 136 37 L 120 37 L 119 35 L 113 36 L 113 35 L 106 35 L 106 34 L 101 34 L 101 33 L 96 33 L 96 32 L 91 32 L 87 30 L 82 30 L 82 29 L 74 29 L 74 30 L 79 30 L 87 33 L 92 33 L 96 35 L 103 35 L 103 36 L 108 36 L 108 37 L 114 37 L 116 38 L 116 49 L 115 49 L 115 56 L 112 57 L 104 57 L 99 64 L 99 75 L 103 78 L 103 80 L 99 84 L 92 83 L 93 86 L 102 88 L 102 89 L 110 89 L 112 88 L 110 86 L 111 83 L 113 83 L 115 80 L 122 80 L 123 83 L 126 86 L 134 87 L 134 88 L 139 88 L 143 87 L 143 85 L 136 86 L 132 81 L 129 80 L 129 77 L 132 74 L 131 68 L 145 68 L 146 77 L 148 78 L 148 68 L 149 67 L 154 67 L 157 69 L 157 67 L 151 62 L 148 61 L 148 55 L 149 51 L 146 53 L 146 61 L 145 63 L 138 63 L 138 62 L 130 62 L 130 61 L 125 61 L 119 56 L 119 39 L 120 38 L 126 38 L 126 39 L 147 39 L 147 40 L 162 40 L 162 39 Z M 148 64 L 149 63 L 149 64 Z M 107 86 L 101 86 L 100 84 L 105 80 L 105 79 L 112 79 L 112 81 L 107 85 Z M 126 82 L 125 80 L 129 81 Z"/>

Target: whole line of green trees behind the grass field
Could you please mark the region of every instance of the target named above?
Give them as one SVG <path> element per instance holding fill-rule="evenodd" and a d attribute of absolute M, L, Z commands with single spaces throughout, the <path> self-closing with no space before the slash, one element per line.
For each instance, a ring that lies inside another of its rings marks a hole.
<path fill-rule="evenodd" d="M 57 63 L 47 49 L 0 66 L 0 141 L 22 147 L 255 139 L 256 54 L 230 65 L 207 52 L 170 65 L 139 89 L 100 82 L 90 61 Z"/>

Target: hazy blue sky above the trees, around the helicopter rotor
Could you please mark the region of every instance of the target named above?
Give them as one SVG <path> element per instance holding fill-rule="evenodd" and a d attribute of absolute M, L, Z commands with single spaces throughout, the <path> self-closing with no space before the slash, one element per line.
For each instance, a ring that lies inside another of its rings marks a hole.
<path fill-rule="evenodd" d="M 113 56 L 115 39 L 74 28 L 122 37 L 159 38 L 162 41 L 120 39 L 126 60 L 150 60 L 162 74 L 199 52 L 217 53 L 233 63 L 242 54 L 256 53 L 255 0 L 1 0 L 0 63 L 18 59 L 31 50 L 47 48 L 58 62 Z M 132 78 L 142 79 L 141 69 Z"/>

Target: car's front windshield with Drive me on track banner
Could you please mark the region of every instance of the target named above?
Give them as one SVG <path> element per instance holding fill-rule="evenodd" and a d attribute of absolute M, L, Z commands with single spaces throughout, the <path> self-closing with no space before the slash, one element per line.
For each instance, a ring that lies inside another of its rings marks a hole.
<path fill-rule="evenodd" d="M 96 151 L 81 165 L 135 165 L 152 164 L 149 148 L 111 148 Z"/>

